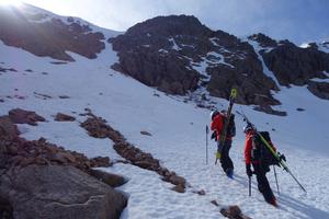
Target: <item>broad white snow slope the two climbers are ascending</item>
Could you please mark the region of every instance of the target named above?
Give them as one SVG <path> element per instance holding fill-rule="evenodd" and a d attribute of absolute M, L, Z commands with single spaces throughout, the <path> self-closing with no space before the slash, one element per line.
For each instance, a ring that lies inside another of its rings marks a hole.
<path fill-rule="evenodd" d="M 114 33 L 109 32 L 107 37 L 110 34 Z M 286 117 L 254 112 L 252 106 L 234 107 L 241 107 L 259 129 L 275 129 L 271 131 L 274 143 L 286 154 L 292 172 L 307 189 L 304 194 L 287 173 L 276 170 L 281 194 L 277 196 L 280 208 L 275 209 L 263 201 L 254 178 L 252 196 L 248 197 L 242 157 L 243 134 L 240 131 L 243 122 L 240 117 L 236 116 L 237 137 L 231 149 L 236 175 L 235 180 L 229 180 L 218 165 L 214 165 L 214 141 L 209 142 L 209 161 L 205 163 L 205 126 L 209 123 L 209 111 L 113 71 L 110 66 L 117 57 L 111 45 L 107 44 L 94 60 L 70 54 L 77 61 L 66 65 L 50 64 L 56 60 L 35 57 L 2 43 L 0 54 L 1 67 L 18 70 L 0 72 L 0 99 L 4 101 L 0 102 L 0 115 L 21 107 L 35 111 L 47 119 L 35 127 L 20 125 L 22 137 L 31 140 L 45 137 L 50 142 L 88 157 L 120 159 L 112 149 L 111 140 L 91 138 L 79 127 L 79 122 L 86 119 L 79 113 L 89 107 L 120 130 L 129 142 L 150 152 L 162 165 L 184 176 L 192 186 L 186 193 L 179 194 L 172 192 L 172 185 L 161 181 L 154 172 L 129 164 L 104 169 L 129 178 L 118 188 L 129 195 L 122 219 L 220 218 L 219 209 L 211 204 L 213 199 L 220 206 L 239 205 L 251 218 L 329 218 L 329 102 L 315 97 L 306 88 L 282 89 L 275 94 L 283 103 L 279 108 L 287 111 Z M 52 99 L 43 100 L 35 92 Z M 60 99 L 59 95 L 68 95 L 69 99 Z M 214 100 L 218 106 L 227 105 L 225 100 Z M 297 107 L 305 111 L 298 112 Z M 76 116 L 77 122 L 55 122 L 53 116 L 58 112 Z M 152 136 L 140 135 L 140 130 Z M 268 175 L 273 191 L 276 191 L 273 171 Z M 192 193 L 200 189 L 204 189 L 206 195 Z"/>

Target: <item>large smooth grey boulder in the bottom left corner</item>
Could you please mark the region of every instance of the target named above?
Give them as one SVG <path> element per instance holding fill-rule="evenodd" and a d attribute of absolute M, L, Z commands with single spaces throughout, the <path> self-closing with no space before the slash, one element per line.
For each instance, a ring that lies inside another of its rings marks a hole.
<path fill-rule="evenodd" d="M 29 165 L 0 176 L 1 199 L 16 219 L 120 218 L 126 198 L 72 166 Z"/>

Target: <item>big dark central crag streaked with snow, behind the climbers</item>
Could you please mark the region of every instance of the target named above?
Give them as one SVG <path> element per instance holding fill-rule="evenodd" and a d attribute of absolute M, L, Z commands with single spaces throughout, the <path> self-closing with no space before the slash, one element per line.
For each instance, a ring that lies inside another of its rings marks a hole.
<path fill-rule="evenodd" d="M 270 92 L 277 87 L 262 73 L 252 46 L 194 16 L 158 16 L 109 42 L 120 57 L 113 69 L 167 93 L 185 94 L 203 85 L 211 95 L 227 99 L 237 87 L 239 103 L 280 103 Z"/>

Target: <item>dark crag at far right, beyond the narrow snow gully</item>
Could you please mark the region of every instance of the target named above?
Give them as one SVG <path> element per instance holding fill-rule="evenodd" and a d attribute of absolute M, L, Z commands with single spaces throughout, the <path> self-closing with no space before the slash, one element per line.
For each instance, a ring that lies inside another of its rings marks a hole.
<path fill-rule="evenodd" d="M 329 78 L 328 43 L 310 43 L 302 48 L 288 41 L 276 42 L 263 34 L 252 35 L 249 39 L 262 47 L 262 59 L 280 85 L 307 85 L 314 95 L 329 100 L 329 83 L 318 81 Z"/>

